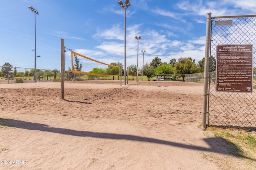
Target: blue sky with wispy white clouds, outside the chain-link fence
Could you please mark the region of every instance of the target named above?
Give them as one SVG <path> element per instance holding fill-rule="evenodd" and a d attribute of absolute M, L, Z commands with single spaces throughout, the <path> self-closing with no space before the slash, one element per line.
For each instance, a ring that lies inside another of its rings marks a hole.
<path fill-rule="evenodd" d="M 65 47 L 101 61 L 124 64 L 124 9 L 119 0 L 1 0 L 0 66 L 34 68 L 34 13 L 37 68 L 60 70 L 60 39 Z M 125 0 L 122 0 L 125 2 Z M 206 14 L 256 14 L 256 0 L 130 0 L 126 9 L 126 66 L 154 57 L 204 57 Z M 66 49 L 66 70 L 71 67 Z"/>

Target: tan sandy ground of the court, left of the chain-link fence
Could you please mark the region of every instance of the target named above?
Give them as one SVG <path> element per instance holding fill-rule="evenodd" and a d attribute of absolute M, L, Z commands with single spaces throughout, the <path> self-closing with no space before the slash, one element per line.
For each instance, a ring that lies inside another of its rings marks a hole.
<path fill-rule="evenodd" d="M 203 85 L 0 84 L 0 169 L 247 169 L 203 131 Z"/>

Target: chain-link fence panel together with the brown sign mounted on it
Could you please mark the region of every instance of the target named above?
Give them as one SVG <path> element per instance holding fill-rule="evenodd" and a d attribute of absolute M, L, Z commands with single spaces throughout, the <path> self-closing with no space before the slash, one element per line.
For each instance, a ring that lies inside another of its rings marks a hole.
<path fill-rule="evenodd" d="M 256 15 L 210 20 L 208 55 L 217 61 L 216 72 L 208 72 L 206 123 L 255 128 Z"/>

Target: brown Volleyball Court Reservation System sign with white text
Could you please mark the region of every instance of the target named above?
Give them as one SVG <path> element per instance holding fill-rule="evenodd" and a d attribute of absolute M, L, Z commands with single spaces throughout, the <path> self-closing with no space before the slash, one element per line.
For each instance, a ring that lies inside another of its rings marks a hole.
<path fill-rule="evenodd" d="M 252 92 L 252 44 L 218 45 L 216 92 Z"/>

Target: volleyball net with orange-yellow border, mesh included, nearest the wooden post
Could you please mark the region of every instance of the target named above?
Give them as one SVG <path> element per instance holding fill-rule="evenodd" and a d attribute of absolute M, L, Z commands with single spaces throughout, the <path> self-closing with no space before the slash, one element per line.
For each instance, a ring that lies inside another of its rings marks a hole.
<path fill-rule="evenodd" d="M 120 66 L 102 63 L 71 51 L 72 72 L 94 76 L 119 76 Z"/>

